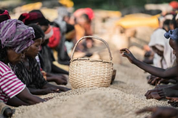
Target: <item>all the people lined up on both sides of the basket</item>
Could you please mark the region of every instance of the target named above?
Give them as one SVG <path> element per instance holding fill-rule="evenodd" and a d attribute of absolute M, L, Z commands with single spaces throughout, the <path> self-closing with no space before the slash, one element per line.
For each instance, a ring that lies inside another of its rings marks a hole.
<path fill-rule="evenodd" d="M 69 65 L 73 44 L 81 37 L 93 34 L 93 18 L 90 8 L 78 9 L 71 14 L 66 7 L 60 6 L 58 18 L 52 22 L 40 10 L 22 13 L 18 19 L 11 19 L 7 10 L 0 10 L 1 116 L 12 116 L 14 111 L 7 105 L 37 104 L 50 98 L 42 99 L 36 95 L 70 90 L 60 86 L 67 84 L 65 74 L 68 71 L 58 64 Z M 128 49 L 121 49 L 121 54 L 151 74 L 147 77 L 148 83 L 155 88 L 147 91 L 147 99 L 167 99 L 169 104 L 177 107 L 178 15 L 174 10 L 161 16 L 159 22 L 160 27 L 151 35 L 150 50 L 144 61 L 137 60 Z M 92 39 L 86 39 L 79 43 L 77 51 L 85 52 L 93 45 Z M 153 112 L 151 118 L 178 116 L 178 111 L 169 107 L 149 107 L 137 113 L 146 111 Z"/>

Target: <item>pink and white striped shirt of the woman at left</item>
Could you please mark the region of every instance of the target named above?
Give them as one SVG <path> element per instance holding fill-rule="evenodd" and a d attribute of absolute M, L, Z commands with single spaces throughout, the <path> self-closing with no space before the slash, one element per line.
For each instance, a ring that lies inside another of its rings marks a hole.
<path fill-rule="evenodd" d="M 0 61 L 0 100 L 7 103 L 8 99 L 19 94 L 25 87 L 14 72 Z"/>

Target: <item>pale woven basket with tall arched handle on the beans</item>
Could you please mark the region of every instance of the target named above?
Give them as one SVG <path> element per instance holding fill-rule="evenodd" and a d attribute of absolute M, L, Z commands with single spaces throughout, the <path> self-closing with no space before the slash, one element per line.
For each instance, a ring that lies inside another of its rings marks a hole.
<path fill-rule="evenodd" d="M 74 51 L 81 40 L 93 38 L 102 41 L 108 48 L 110 61 L 92 60 L 89 58 L 73 59 Z M 69 68 L 69 82 L 72 88 L 108 87 L 111 83 L 113 63 L 108 44 L 101 38 L 93 36 L 82 37 L 74 46 Z"/>

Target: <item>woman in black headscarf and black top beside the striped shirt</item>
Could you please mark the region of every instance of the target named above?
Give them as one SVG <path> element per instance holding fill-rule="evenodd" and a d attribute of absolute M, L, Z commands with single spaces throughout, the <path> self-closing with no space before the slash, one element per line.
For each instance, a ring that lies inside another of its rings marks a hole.
<path fill-rule="evenodd" d="M 13 67 L 15 74 L 34 95 L 44 95 L 69 90 L 65 87 L 52 85 L 43 78 L 35 57 L 40 51 L 44 33 L 36 24 L 30 24 L 29 26 L 35 31 L 34 43 L 29 47 L 28 51 L 26 51 L 25 58 Z M 67 82 L 61 78 L 61 83 L 66 84 Z"/>

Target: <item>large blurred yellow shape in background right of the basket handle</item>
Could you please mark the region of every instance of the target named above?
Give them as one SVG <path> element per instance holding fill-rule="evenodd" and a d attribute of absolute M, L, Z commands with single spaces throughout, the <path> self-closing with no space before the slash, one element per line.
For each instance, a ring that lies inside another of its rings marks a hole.
<path fill-rule="evenodd" d="M 116 25 L 122 26 L 123 28 L 132 28 L 137 26 L 149 26 L 153 28 L 159 27 L 158 17 L 160 15 L 155 16 L 147 16 L 143 14 L 131 14 L 126 15 L 116 22 Z"/>

